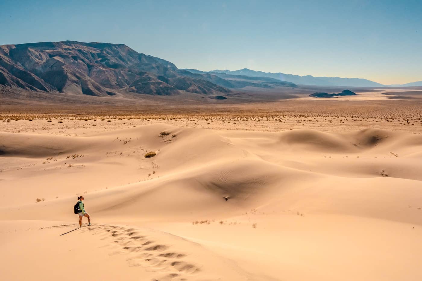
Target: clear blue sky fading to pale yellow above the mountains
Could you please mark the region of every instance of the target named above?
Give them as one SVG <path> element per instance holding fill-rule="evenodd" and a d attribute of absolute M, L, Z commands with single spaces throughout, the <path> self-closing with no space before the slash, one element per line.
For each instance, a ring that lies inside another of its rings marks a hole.
<path fill-rule="evenodd" d="M 422 0 L 1 0 L 0 19 L 0 45 L 124 43 L 179 68 L 422 80 Z"/>

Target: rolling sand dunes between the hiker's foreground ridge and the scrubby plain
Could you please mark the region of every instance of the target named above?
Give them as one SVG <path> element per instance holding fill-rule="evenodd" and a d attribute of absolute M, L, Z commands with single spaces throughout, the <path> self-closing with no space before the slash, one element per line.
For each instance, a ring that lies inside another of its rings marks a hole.
<path fill-rule="evenodd" d="M 421 223 L 410 210 L 395 209 L 422 199 L 422 165 L 414 155 L 422 148 L 419 135 L 378 129 L 218 132 L 156 124 L 89 137 L 1 133 L 0 145 L 6 159 L 31 163 L 1 174 L 15 182 L 6 194 L 22 194 L 6 203 L 12 207 L 8 219 L 35 219 L 46 211 L 50 219 L 71 219 L 76 189 L 89 192 L 90 211 L 103 216 L 184 220 L 300 206 Z M 145 158 L 147 151 L 157 155 Z M 99 178 L 103 182 L 95 184 Z M 84 182 L 92 186 L 77 187 Z M 46 201 L 35 203 L 37 197 Z"/>

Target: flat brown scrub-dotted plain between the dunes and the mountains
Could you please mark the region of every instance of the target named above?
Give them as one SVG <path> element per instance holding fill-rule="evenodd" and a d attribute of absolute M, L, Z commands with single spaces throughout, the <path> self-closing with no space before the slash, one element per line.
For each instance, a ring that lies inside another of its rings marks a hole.
<path fill-rule="evenodd" d="M 359 106 L 358 106 L 359 104 Z M 1 105 L 0 105 L 1 106 Z M 376 109 L 374 109 L 376 108 Z M 113 109 L 104 106 L 79 107 L 82 116 L 71 116 L 73 107 L 61 105 L 51 111 L 49 107 L 16 107 L 1 106 L 0 130 L 16 132 L 14 127 L 6 126 L 10 120 L 31 119 L 38 126 L 40 120 L 61 119 L 68 128 L 76 130 L 92 128 L 94 120 L 105 121 L 108 124 L 97 124 L 98 132 L 122 127 L 141 126 L 143 124 L 171 124 L 181 127 L 198 127 L 215 130 L 255 130 L 280 131 L 300 128 L 314 128 L 316 130 L 352 131 L 359 128 L 376 127 L 402 132 L 422 134 L 422 99 L 413 103 L 403 103 L 399 100 L 379 100 L 376 103 L 366 101 L 321 101 L 321 100 L 288 100 L 282 103 L 248 103 L 230 105 L 180 105 L 177 113 L 162 110 L 159 107 L 148 106 L 116 106 Z M 49 112 L 51 111 L 51 112 Z M 139 114 L 139 111 L 144 113 Z M 46 112 L 42 114 L 39 112 Z M 85 118 L 86 117 L 86 118 Z M 88 120 L 80 122 L 79 120 Z M 113 120 L 113 122 L 111 122 Z M 19 123 L 19 122 L 18 122 Z M 64 123 L 59 123 L 64 125 Z M 25 127 L 23 123 L 18 129 L 21 132 L 34 130 Z M 111 126 L 111 127 L 110 127 Z M 42 128 L 42 127 L 41 127 Z M 40 129 L 41 129 L 40 128 Z M 36 129 L 35 127 L 35 130 Z M 54 129 L 60 131 L 60 128 Z M 164 133 L 164 134 L 162 134 Z M 168 134 L 167 134 L 168 133 Z M 172 138 L 170 130 L 158 133 Z"/>

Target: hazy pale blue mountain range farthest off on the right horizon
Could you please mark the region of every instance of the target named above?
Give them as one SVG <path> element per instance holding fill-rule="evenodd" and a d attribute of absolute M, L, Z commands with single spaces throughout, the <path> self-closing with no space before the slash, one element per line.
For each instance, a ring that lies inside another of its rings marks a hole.
<path fill-rule="evenodd" d="M 377 86 L 422 86 L 422 81 L 408 83 L 403 85 L 383 85 L 374 81 L 370 81 L 362 78 L 340 78 L 340 77 L 314 77 L 311 75 L 299 76 L 293 74 L 285 74 L 281 72 L 271 73 L 271 72 L 262 72 L 250 70 L 248 68 L 243 68 L 240 70 L 211 70 L 211 71 L 201 71 L 196 69 L 185 69 L 192 73 L 225 73 L 230 75 L 241 75 L 241 76 L 251 76 L 251 77 L 269 77 L 277 79 L 279 81 L 289 81 L 298 85 L 314 85 L 314 86 L 350 86 L 350 87 L 377 87 Z"/>

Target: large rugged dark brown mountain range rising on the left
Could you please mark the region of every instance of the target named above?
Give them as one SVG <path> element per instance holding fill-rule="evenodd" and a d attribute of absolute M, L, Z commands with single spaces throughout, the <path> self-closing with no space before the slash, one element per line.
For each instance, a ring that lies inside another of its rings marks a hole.
<path fill-rule="evenodd" d="M 225 79 L 216 74 L 180 70 L 167 60 L 140 54 L 124 44 L 61 41 L 0 46 L 0 90 L 102 97 L 181 92 L 219 96 L 246 86 L 296 86 L 270 78 Z"/>

